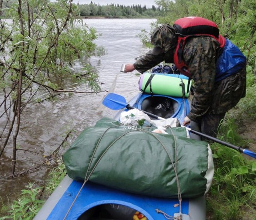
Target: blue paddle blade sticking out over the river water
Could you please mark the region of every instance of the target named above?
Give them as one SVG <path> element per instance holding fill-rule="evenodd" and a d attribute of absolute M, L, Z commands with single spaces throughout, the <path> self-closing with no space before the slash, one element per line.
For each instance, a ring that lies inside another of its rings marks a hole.
<path fill-rule="evenodd" d="M 109 93 L 102 101 L 102 104 L 112 110 L 119 110 L 127 106 L 125 97 L 115 93 Z"/>

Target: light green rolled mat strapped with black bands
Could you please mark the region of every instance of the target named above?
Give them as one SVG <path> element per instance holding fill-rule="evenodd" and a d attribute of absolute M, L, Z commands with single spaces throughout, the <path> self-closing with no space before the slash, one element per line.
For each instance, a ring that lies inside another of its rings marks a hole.
<path fill-rule="evenodd" d="M 182 84 L 184 84 L 183 89 Z M 188 84 L 189 89 L 187 89 Z M 141 75 L 139 82 L 139 89 L 144 93 L 164 96 L 183 97 L 184 93 L 187 98 L 189 97 L 190 87 L 189 79 L 177 74 L 144 73 Z"/>

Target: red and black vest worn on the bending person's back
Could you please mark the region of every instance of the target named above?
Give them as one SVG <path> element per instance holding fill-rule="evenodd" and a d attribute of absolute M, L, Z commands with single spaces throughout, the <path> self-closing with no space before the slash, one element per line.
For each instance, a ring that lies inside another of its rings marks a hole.
<path fill-rule="evenodd" d="M 183 17 L 175 21 L 173 27 L 177 31 L 178 43 L 174 55 L 174 63 L 177 69 L 183 75 L 191 77 L 188 66 L 182 59 L 182 50 L 186 42 L 186 38 L 191 36 L 209 36 L 216 39 L 220 43 L 220 47 L 224 48 L 226 39 L 219 35 L 218 26 L 203 17 Z"/>

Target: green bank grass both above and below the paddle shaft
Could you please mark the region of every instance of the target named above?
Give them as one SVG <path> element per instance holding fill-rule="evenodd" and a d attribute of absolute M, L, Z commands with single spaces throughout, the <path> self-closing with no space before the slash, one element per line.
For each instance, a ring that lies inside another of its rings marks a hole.
<path fill-rule="evenodd" d="M 247 89 L 249 94 L 254 87 L 255 85 Z M 254 98 L 250 96 L 244 98 L 236 109 L 227 114 L 219 128 L 218 139 L 243 148 L 255 143 L 255 140 L 243 139 L 238 131 L 242 129 L 238 124 L 245 120 L 239 116 L 245 115 L 246 120 L 255 123 L 256 107 L 255 104 L 251 105 L 251 99 Z M 207 195 L 209 219 L 255 220 L 256 160 L 216 143 L 211 144 L 211 148 L 215 173 Z"/>

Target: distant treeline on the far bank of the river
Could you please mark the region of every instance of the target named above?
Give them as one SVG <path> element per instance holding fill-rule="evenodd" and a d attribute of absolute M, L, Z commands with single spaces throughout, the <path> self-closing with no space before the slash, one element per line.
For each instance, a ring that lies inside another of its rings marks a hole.
<path fill-rule="evenodd" d="M 83 17 L 88 16 L 103 16 L 109 18 L 119 18 L 119 17 L 157 17 L 162 14 L 160 7 L 155 7 L 154 5 L 151 9 L 147 8 L 145 5 L 132 5 L 123 6 L 119 4 L 110 4 L 107 6 L 100 6 L 99 4 L 94 4 L 92 1 L 90 4 L 79 4 L 79 15 Z"/>

